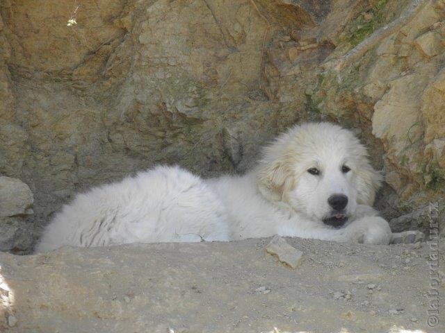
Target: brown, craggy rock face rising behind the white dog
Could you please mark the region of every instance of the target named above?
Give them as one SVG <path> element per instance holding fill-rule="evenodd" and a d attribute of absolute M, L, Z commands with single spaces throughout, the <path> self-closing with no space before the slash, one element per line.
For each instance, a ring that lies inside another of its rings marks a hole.
<path fill-rule="evenodd" d="M 307 120 L 370 146 L 396 228 L 444 210 L 445 1 L 6 0 L 0 15 L 0 173 L 31 187 L 33 230 L 157 163 L 243 172 Z"/>

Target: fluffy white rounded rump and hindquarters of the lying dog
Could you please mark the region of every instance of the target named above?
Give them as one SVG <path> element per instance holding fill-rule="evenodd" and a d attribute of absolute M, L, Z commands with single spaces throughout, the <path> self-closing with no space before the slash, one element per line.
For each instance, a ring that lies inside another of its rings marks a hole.
<path fill-rule="evenodd" d="M 197 176 L 156 167 L 78 194 L 44 230 L 36 252 L 60 246 L 227 241 L 224 207 Z"/>

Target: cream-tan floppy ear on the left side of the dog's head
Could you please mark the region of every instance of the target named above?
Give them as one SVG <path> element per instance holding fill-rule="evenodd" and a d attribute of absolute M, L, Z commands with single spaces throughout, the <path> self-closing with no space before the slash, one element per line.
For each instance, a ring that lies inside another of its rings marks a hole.
<path fill-rule="evenodd" d="M 273 147 L 267 148 L 264 158 L 257 167 L 258 189 L 272 202 L 286 202 L 286 194 L 291 190 L 294 176 L 285 154 L 276 154 Z"/>

